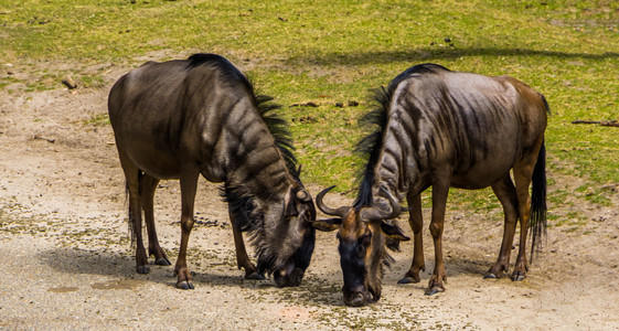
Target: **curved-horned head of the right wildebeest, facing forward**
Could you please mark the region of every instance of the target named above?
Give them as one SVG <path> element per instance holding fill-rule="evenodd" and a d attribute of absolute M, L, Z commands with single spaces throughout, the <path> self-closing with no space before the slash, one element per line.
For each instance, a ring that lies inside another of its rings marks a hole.
<path fill-rule="evenodd" d="M 363 306 L 377 301 L 381 298 L 383 265 L 392 260 L 385 247 L 397 249 L 401 241 L 409 239 L 396 225 L 386 222 L 399 215 L 399 204 L 386 193 L 391 211 L 378 205 L 331 209 L 322 202 L 331 189 L 333 186 L 320 192 L 316 203 L 323 213 L 337 218 L 316 221 L 313 226 L 321 231 L 338 229 L 344 303 Z"/>

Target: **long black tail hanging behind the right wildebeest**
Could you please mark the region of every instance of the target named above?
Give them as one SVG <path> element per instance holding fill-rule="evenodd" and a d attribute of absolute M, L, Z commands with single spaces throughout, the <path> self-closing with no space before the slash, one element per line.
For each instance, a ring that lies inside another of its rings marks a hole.
<path fill-rule="evenodd" d="M 535 249 L 542 246 L 542 235 L 546 235 L 546 148 L 542 142 L 540 153 L 537 154 L 537 163 L 533 170 L 533 188 L 531 192 L 531 218 L 529 227 L 532 228 L 531 234 L 531 263 Z"/>

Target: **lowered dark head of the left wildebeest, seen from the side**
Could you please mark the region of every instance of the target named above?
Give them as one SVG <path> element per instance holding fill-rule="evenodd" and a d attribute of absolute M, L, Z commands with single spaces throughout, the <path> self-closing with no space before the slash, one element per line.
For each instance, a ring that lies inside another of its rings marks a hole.
<path fill-rule="evenodd" d="M 256 201 L 256 203 L 258 203 Z M 316 209 L 302 185 L 292 186 L 279 203 L 258 203 L 264 222 L 253 234 L 258 273 L 274 276 L 278 287 L 298 286 L 313 253 Z"/>

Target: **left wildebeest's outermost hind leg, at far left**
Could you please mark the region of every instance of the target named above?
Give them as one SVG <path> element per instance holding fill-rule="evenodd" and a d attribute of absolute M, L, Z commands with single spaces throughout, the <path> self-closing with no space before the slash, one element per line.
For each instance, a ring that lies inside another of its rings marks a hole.
<path fill-rule="evenodd" d="M 148 256 L 146 255 L 142 241 L 142 206 L 138 180 L 140 170 L 120 148 L 118 148 L 118 156 L 127 180 L 127 190 L 129 191 L 129 222 L 132 222 L 132 235 L 136 237 L 136 271 L 138 274 L 148 274 L 150 266 L 148 265 Z"/>

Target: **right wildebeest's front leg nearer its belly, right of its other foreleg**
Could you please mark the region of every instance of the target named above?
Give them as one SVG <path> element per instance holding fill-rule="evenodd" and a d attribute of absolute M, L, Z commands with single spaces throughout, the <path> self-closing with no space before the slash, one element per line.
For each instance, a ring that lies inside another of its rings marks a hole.
<path fill-rule="evenodd" d="M 445 224 L 445 209 L 447 195 L 449 194 L 449 177 L 436 175 L 440 181 L 433 184 L 433 216 L 430 223 L 430 234 L 434 239 L 435 266 L 433 277 L 428 284 L 428 296 L 445 291 L 444 282 L 447 282 L 445 264 L 442 261 L 442 227 Z"/>

